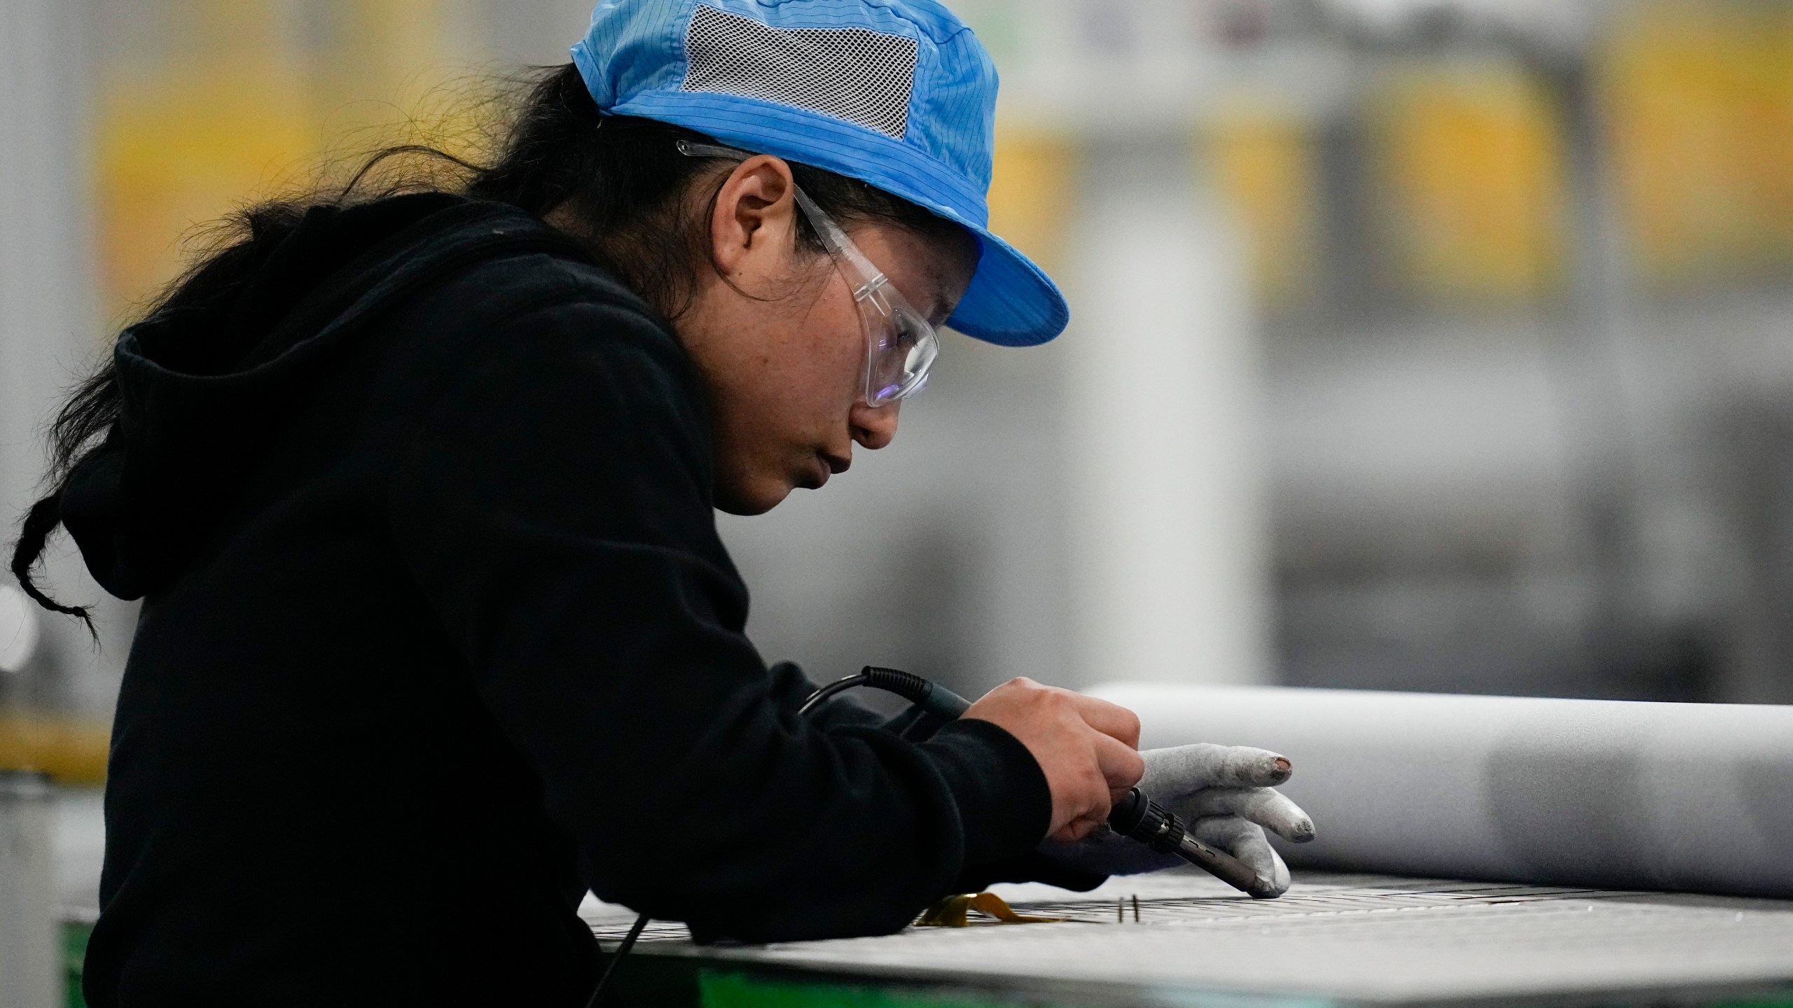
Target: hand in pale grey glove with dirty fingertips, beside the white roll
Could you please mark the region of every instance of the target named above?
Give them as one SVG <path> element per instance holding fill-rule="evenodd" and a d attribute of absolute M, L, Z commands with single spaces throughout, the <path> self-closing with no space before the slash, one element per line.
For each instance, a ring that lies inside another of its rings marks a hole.
<path fill-rule="evenodd" d="M 1286 757 L 1250 746 L 1176 746 L 1140 753 L 1146 773 L 1139 789 L 1176 812 L 1196 839 L 1244 861 L 1277 895 L 1289 890 L 1289 866 L 1269 847 L 1264 830 L 1293 843 L 1314 838 L 1314 820 L 1287 800 L 1277 784 L 1293 773 Z M 1176 868 L 1185 861 L 1144 843 L 1097 830 L 1079 843 L 1047 839 L 1040 852 L 1072 868 L 1103 875 L 1137 875 Z"/>

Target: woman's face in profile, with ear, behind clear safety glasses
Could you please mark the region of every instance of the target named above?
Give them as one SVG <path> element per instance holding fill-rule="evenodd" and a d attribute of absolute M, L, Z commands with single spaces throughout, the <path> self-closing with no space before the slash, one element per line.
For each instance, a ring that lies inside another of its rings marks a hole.
<path fill-rule="evenodd" d="M 717 506 L 737 515 L 846 472 L 855 443 L 875 450 L 896 436 L 900 404 L 864 404 L 866 332 L 846 278 L 827 253 L 796 246 L 793 192 L 778 158 L 733 167 L 710 213 L 719 274 L 703 271 L 674 321 L 710 393 Z M 891 224 L 843 226 L 929 321 L 952 314 L 977 265 L 970 233 L 936 248 Z"/>

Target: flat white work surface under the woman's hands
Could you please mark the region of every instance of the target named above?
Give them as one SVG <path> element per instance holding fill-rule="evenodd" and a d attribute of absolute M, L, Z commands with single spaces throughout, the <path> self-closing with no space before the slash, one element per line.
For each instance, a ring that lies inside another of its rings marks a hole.
<path fill-rule="evenodd" d="M 1456 1001 L 1793 988 L 1784 900 L 1323 873 L 1298 873 L 1278 900 L 1252 900 L 1194 870 L 1112 879 L 1090 893 L 995 891 L 1022 913 L 1072 920 L 703 949 L 681 925 L 656 924 L 637 954 L 1033 988 L 1121 983 L 1148 1004 L 1192 992 Z M 606 949 L 629 922 L 602 904 L 588 904 L 586 918 Z"/>

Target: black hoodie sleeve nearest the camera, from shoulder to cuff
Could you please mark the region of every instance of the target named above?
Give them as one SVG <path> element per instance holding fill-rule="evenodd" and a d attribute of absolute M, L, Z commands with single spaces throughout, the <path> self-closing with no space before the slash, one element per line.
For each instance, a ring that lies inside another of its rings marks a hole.
<path fill-rule="evenodd" d="M 895 931 L 1042 839 L 1045 777 L 986 721 L 796 717 L 742 635 L 696 395 L 628 308 L 515 319 L 394 461 L 402 561 L 601 899 L 699 940 Z"/>

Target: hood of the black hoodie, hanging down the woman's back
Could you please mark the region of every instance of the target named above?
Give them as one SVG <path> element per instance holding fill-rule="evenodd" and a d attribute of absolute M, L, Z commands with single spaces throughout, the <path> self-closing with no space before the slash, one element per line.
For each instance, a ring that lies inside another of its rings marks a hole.
<path fill-rule="evenodd" d="M 154 594 L 230 526 L 246 481 L 321 369 L 378 308 L 500 248 L 559 237 L 446 194 L 314 206 L 212 260 L 118 335 L 118 423 L 70 472 L 63 526 L 113 595 Z"/>

